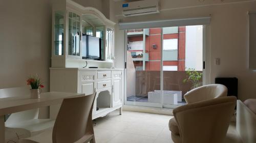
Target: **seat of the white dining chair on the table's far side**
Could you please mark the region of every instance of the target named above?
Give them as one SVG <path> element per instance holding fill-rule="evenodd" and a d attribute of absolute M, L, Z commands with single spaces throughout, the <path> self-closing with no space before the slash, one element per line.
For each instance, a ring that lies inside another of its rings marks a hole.
<path fill-rule="evenodd" d="M 29 136 L 37 135 L 54 126 L 54 119 L 31 119 L 15 124 L 6 125 L 8 131 L 19 129 L 20 134 L 28 134 Z M 22 131 L 23 130 L 23 131 Z"/>

